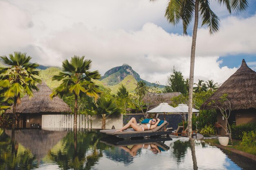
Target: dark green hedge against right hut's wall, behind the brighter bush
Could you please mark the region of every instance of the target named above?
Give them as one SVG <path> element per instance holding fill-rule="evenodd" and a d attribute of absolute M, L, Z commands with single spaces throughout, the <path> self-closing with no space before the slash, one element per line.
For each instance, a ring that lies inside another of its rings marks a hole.
<path fill-rule="evenodd" d="M 256 131 L 256 122 L 252 122 L 249 124 L 240 124 L 238 126 L 231 125 L 231 133 L 233 139 L 241 140 L 243 138 L 243 132 Z"/>

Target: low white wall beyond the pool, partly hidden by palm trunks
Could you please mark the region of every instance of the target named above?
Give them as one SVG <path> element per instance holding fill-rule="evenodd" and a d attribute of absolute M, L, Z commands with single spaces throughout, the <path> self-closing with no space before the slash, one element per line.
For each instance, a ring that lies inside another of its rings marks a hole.
<path fill-rule="evenodd" d="M 92 122 L 92 124 L 91 124 Z M 106 129 L 123 126 L 123 115 L 111 115 L 106 120 Z M 42 115 L 42 128 L 73 128 L 74 115 Z M 77 128 L 101 129 L 101 117 L 94 115 L 77 115 Z"/>

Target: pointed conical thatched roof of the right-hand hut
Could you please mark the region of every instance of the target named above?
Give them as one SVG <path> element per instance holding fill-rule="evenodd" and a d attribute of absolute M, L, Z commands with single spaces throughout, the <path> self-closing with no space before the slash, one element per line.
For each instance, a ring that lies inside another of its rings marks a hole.
<path fill-rule="evenodd" d="M 201 109 L 212 108 L 209 106 L 209 102 L 217 102 L 225 93 L 228 94 L 227 99 L 229 99 L 231 103 L 231 110 L 256 109 L 256 72 L 247 66 L 244 59 L 236 73 L 231 75 L 222 86 L 202 104 Z M 217 105 L 221 106 L 218 102 Z"/>

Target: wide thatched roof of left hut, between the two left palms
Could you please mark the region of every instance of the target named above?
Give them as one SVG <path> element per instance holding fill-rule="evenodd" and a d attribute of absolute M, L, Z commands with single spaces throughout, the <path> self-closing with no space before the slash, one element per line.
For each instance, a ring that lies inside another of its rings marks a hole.
<path fill-rule="evenodd" d="M 42 82 L 37 86 L 39 91 L 33 92 L 33 97 L 29 96 L 21 98 L 21 104 L 17 107 L 16 113 L 70 113 L 71 108 L 58 96 L 52 100 L 49 95 L 52 90 Z M 7 110 L 7 113 L 12 113 L 12 108 Z"/>

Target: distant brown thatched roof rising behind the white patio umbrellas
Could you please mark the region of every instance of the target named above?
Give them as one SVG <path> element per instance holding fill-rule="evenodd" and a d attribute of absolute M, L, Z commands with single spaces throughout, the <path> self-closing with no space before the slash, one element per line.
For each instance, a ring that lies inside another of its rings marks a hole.
<path fill-rule="evenodd" d="M 180 95 L 180 92 L 173 93 L 147 93 L 143 98 L 143 101 L 146 103 L 152 103 L 150 108 L 154 108 L 160 103 L 166 102 L 171 104 L 171 98 Z"/>

